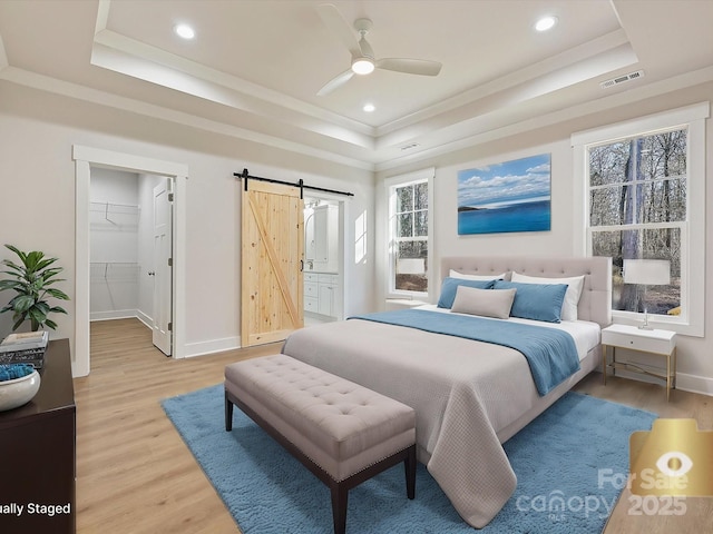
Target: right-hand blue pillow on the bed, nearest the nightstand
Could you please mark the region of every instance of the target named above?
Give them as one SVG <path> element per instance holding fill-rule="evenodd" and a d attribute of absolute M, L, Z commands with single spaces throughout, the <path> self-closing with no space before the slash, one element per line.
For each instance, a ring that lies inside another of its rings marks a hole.
<path fill-rule="evenodd" d="M 561 303 L 565 300 L 567 284 L 519 284 L 496 280 L 495 289 L 517 289 L 510 309 L 511 317 L 559 323 Z"/>

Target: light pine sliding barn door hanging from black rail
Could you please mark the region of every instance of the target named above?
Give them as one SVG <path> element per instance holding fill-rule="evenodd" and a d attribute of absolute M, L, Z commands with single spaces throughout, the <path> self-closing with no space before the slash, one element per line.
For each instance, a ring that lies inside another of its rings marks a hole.
<path fill-rule="evenodd" d="M 304 205 L 300 188 L 250 180 L 243 191 L 241 345 L 303 326 Z"/>

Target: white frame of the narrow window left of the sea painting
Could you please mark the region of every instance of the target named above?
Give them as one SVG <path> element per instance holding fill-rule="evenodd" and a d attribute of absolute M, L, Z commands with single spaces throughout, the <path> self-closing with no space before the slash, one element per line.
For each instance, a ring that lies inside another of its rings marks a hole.
<path fill-rule="evenodd" d="M 433 177 L 436 176 L 436 168 L 430 167 L 428 169 L 417 170 L 407 175 L 393 176 L 387 178 L 383 184 L 385 188 L 387 198 L 387 298 L 406 298 L 406 299 L 428 299 L 433 287 Z M 428 260 L 427 260 L 427 279 L 428 291 L 407 291 L 395 288 L 395 273 L 394 273 L 394 255 L 395 255 L 395 191 L 397 187 L 408 186 L 410 184 L 417 184 L 426 181 L 428 184 L 428 237 L 426 239 L 428 247 Z"/>

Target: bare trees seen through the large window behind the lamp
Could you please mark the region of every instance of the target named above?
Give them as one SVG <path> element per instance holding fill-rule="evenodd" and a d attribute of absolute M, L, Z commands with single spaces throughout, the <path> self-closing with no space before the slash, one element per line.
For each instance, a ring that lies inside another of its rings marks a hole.
<path fill-rule="evenodd" d="M 613 258 L 613 309 L 681 313 L 686 155 L 685 128 L 588 148 L 592 254 Z M 624 284 L 625 259 L 670 261 L 671 284 Z"/>

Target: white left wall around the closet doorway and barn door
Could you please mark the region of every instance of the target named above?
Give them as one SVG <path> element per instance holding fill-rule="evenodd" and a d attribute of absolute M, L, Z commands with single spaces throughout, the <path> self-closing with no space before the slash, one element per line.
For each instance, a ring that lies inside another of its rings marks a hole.
<path fill-rule="evenodd" d="M 75 295 L 72 145 L 188 166 L 187 231 L 179 238 L 187 255 L 187 354 L 240 342 L 242 182 L 233 172 L 244 167 L 254 176 L 354 194 L 345 202 L 345 313 L 373 309 L 372 236 L 367 254 L 354 257 L 355 219 L 364 214 L 374 227 L 371 172 L 0 81 L 0 241 L 59 257 L 68 295 Z M 10 256 L 0 250 L 0 259 Z M 0 294 L 0 305 L 9 298 Z M 52 337 L 68 337 L 74 348 L 74 303 L 64 306 L 68 315 L 57 317 Z M 0 333 L 10 328 L 11 317 L 0 315 Z"/>

